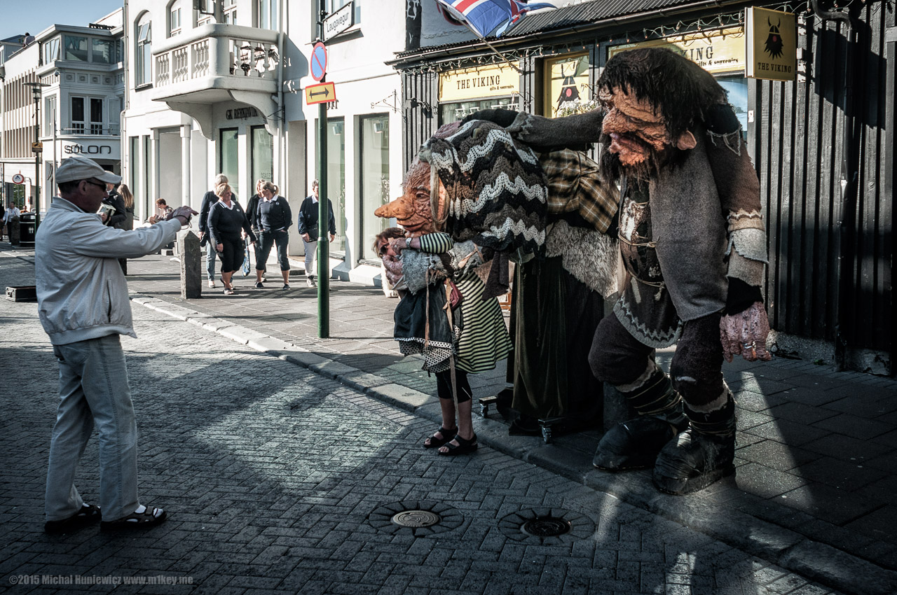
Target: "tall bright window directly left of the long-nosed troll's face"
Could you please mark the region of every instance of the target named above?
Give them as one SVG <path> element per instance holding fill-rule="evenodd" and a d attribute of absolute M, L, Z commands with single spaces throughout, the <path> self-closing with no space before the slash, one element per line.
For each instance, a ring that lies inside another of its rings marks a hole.
<path fill-rule="evenodd" d="M 377 260 L 371 244 L 389 220 L 374 214 L 389 202 L 389 117 L 361 117 L 361 258 Z M 330 194 L 329 192 L 327 194 Z"/>

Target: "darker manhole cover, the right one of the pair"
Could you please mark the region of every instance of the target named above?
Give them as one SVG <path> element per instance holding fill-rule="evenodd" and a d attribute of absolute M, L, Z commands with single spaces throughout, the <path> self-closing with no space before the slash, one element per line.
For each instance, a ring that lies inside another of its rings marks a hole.
<path fill-rule="evenodd" d="M 499 530 L 515 541 L 550 545 L 587 539 L 595 532 L 595 522 L 585 514 L 562 508 L 535 508 L 503 516 Z"/>

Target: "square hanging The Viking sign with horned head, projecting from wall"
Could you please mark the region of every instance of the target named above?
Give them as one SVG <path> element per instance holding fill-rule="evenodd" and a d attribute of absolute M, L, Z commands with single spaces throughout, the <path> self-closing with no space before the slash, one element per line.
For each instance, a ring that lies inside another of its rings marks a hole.
<path fill-rule="evenodd" d="M 797 28 L 793 13 L 748 9 L 746 45 L 745 76 L 768 81 L 794 81 Z"/>

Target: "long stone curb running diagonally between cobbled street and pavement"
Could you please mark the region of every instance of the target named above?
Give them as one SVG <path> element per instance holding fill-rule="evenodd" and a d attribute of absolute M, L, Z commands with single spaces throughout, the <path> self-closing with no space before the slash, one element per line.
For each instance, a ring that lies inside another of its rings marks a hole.
<path fill-rule="evenodd" d="M 375 375 L 311 353 L 292 343 L 274 339 L 239 324 L 169 304 L 155 297 L 133 294 L 131 298 L 141 306 L 182 321 L 199 324 L 252 349 L 269 353 L 292 364 L 308 368 L 319 375 L 332 378 L 379 401 L 388 402 L 399 409 L 429 418 L 436 423 L 440 422 L 439 409 L 434 407 L 435 403 L 432 403 L 429 394 L 394 383 L 372 385 L 370 376 Z M 279 353 L 282 351 L 291 352 Z M 562 451 L 553 444 L 535 443 L 534 447 L 531 437 L 508 436 L 504 424 L 488 418 L 474 416 L 474 424 L 481 442 L 496 451 L 551 470 L 566 479 L 618 498 L 627 504 L 656 513 L 692 530 L 698 530 L 713 539 L 792 572 L 801 573 L 834 589 L 860 595 L 897 592 L 897 572 L 886 570 L 832 546 L 806 539 L 796 531 L 763 521 L 751 514 L 727 511 L 727 514 L 719 515 L 712 502 L 659 494 L 650 482 L 645 480 L 648 476 L 647 471 L 626 475 L 601 473 L 591 469 L 588 455 L 577 456 L 577 453 Z M 571 461 L 574 464 L 570 464 Z"/>

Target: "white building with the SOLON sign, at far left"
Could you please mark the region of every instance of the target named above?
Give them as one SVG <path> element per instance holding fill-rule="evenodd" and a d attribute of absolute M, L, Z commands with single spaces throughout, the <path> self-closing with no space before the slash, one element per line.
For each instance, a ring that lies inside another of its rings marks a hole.
<path fill-rule="evenodd" d="M 118 10 L 86 27 L 53 25 L 28 47 L 3 56 L 0 176 L 7 198 L 30 208 L 38 203 L 46 211 L 56 193 L 56 165 L 72 155 L 120 172 L 125 92 L 121 35 Z M 13 48 L 3 49 L 5 54 Z M 35 142 L 39 151 L 32 147 Z"/>

